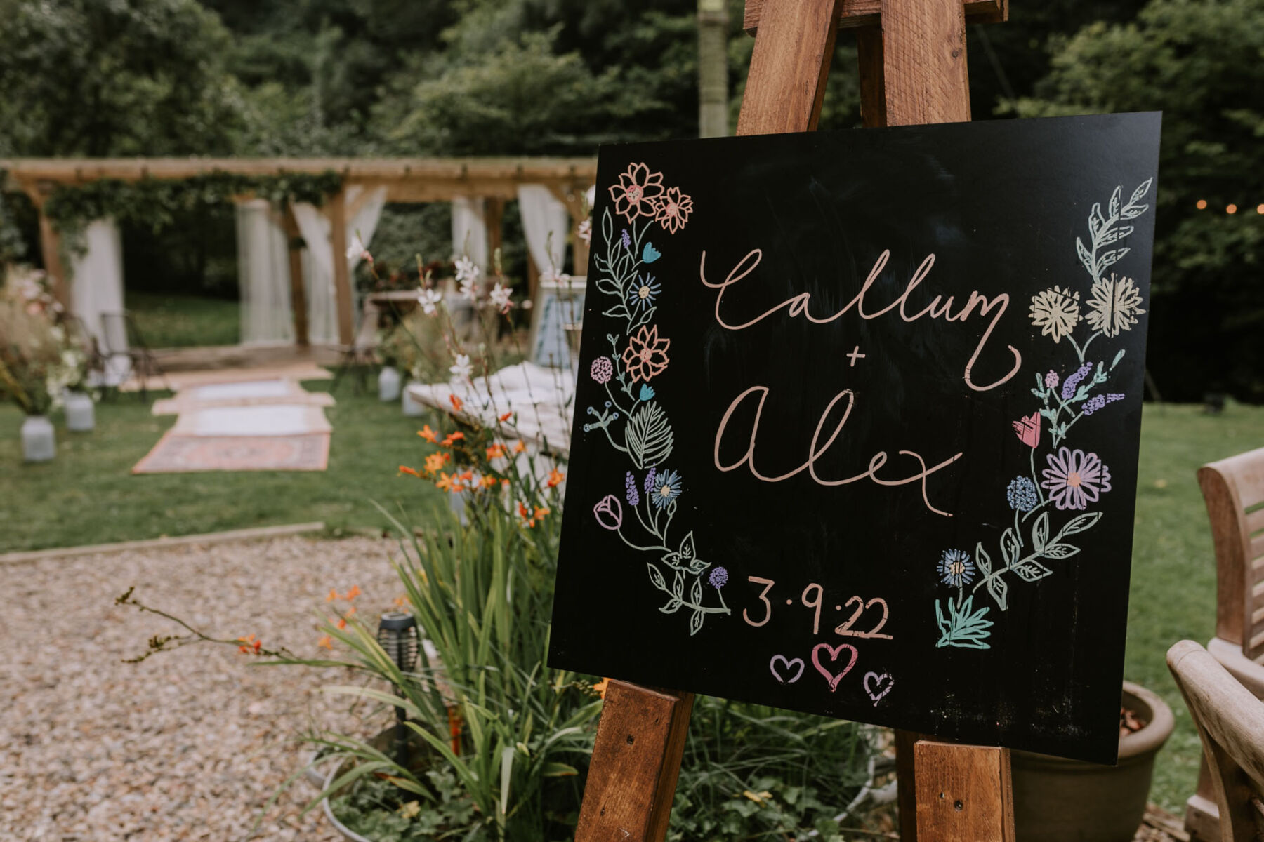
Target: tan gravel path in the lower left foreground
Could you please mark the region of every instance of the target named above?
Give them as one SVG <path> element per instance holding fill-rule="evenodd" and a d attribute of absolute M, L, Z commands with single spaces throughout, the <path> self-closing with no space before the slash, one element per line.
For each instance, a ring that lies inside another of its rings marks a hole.
<path fill-rule="evenodd" d="M 354 726 L 346 699 L 319 692 L 343 669 L 252 668 L 201 644 L 142 664 L 173 624 L 114 605 L 137 598 L 207 634 L 257 634 L 267 646 L 319 655 L 315 611 L 331 587 L 358 584 L 363 617 L 402 593 L 392 544 L 355 538 L 181 547 L 0 566 L 0 839 L 337 839 L 298 781 L 287 742 L 320 723 Z M 389 716 L 389 715 L 388 715 Z"/>

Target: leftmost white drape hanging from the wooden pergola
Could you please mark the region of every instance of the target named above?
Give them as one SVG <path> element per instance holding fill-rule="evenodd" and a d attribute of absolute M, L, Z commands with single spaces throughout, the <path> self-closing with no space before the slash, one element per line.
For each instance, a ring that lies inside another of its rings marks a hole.
<path fill-rule="evenodd" d="M 114 220 L 94 220 L 83 230 L 83 251 L 71 256 L 71 307 L 106 355 L 105 382 L 126 380 L 131 361 L 121 318 L 123 241 Z"/>

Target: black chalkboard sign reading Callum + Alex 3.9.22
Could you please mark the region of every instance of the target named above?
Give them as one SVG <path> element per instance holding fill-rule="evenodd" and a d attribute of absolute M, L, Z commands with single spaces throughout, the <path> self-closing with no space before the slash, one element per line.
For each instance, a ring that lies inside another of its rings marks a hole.
<path fill-rule="evenodd" d="M 1158 144 L 604 146 L 550 664 L 1112 762 Z"/>

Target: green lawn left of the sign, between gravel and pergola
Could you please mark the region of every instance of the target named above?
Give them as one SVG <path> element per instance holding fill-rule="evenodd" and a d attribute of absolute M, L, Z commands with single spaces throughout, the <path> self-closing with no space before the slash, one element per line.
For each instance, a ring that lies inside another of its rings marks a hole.
<path fill-rule="evenodd" d="M 310 391 L 329 381 L 303 384 Z M 413 519 L 441 495 L 428 483 L 397 476 L 420 461 L 421 423 L 399 403 L 353 395 L 350 381 L 325 410 L 334 425 L 327 471 L 130 473 L 176 420 L 153 417 L 135 395 L 96 406 L 96 430 L 68 433 L 57 424 L 57 458 L 24 465 L 18 438 L 21 415 L 0 405 L 0 553 L 107 542 L 188 535 L 324 520 L 330 530 L 383 528 L 377 500 Z M 158 396 L 162 396 L 161 393 Z"/>

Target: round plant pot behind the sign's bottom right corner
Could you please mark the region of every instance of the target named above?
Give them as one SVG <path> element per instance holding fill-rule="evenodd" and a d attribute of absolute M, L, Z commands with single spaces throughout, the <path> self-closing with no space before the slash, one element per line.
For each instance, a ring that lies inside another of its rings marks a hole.
<path fill-rule="evenodd" d="M 1154 755 L 1172 736 L 1172 708 L 1124 682 L 1124 707 L 1145 727 L 1119 740 L 1119 765 L 1010 754 L 1018 842 L 1131 842 L 1150 793 Z"/>

